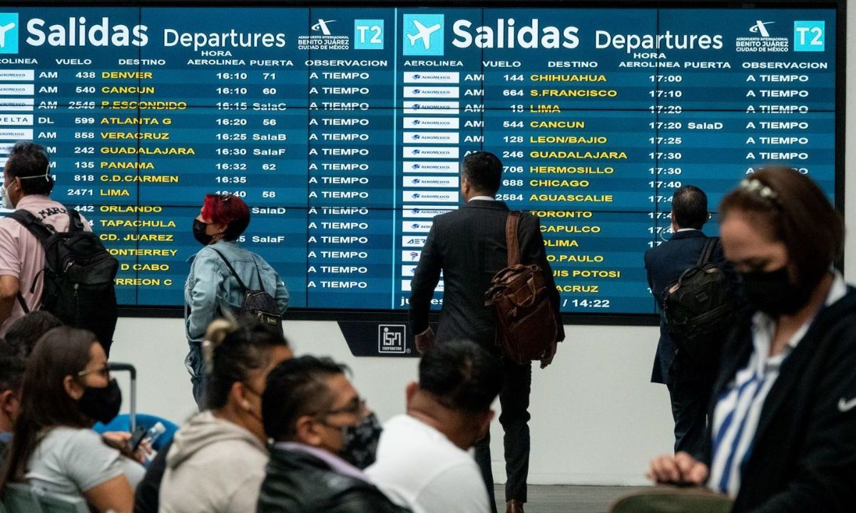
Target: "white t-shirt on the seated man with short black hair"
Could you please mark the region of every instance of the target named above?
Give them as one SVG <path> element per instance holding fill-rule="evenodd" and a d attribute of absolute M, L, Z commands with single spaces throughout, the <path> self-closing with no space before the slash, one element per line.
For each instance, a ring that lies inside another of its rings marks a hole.
<path fill-rule="evenodd" d="M 414 513 L 488 513 L 479 466 L 446 435 L 412 416 L 389 419 L 377 445 L 372 482 Z"/>

